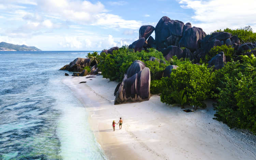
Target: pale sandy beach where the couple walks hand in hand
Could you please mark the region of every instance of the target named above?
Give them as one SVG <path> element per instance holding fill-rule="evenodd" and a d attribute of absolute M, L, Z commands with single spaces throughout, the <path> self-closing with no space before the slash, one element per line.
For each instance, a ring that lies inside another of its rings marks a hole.
<path fill-rule="evenodd" d="M 190 113 L 162 103 L 156 95 L 114 105 L 117 82 L 96 76 L 65 77 L 63 83 L 86 107 L 91 130 L 110 160 L 256 159 L 256 136 L 212 119 L 211 101 L 206 109 Z M 116 125 L 113 131 L 112 121 L 119 117 L 123 128 Z"/>

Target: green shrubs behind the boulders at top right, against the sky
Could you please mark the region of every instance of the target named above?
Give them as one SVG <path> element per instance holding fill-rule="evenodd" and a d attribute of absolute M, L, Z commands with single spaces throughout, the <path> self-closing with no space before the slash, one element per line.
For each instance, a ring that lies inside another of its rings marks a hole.
<path fill-rule="evenodd" d="M 251 28 L 251 26 L 246 26 L 244 28 L 239 28 L 239 29 L 229 29 L 229 28 L 226 28 L 224 30 L 219 29 L 214 32 L 221 32 L 221 31 L 232 33 L 232 35 L 237 35 L 241 43 L 256 41 L 256 33 L 253 32 L 253 29 Z"/>

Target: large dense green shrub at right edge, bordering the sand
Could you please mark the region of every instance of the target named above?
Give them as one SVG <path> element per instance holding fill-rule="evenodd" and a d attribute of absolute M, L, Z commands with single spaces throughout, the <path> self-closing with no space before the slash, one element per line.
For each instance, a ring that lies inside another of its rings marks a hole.
<path fill-rule="evenodd" d="M 216 120 L 231 128 L 256 133 L 256 68 L 249 63 L 228 62 L 216 74 L 219 79 Z"/>

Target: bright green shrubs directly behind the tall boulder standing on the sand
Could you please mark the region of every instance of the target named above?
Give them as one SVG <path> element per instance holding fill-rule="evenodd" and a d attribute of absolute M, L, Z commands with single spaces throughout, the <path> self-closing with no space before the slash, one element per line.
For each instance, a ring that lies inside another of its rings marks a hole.
<path fill-rule="evenodd" d="M 124 74 L 130 67 L 134 60 L 141 60 L 143 62 L 150 59 L 150 57 L 156 57 L 159 60 L 164 60 L 161 52 L 156 49 L 149 49 L 149 52 L 142 50 L 141 52 L 130 52 L 129 49 L 119 48 L 114 50 L 113 54 L 108 54 L 98 65 L 104 78 L 109 78 L 111 81 L 121 82 L 124 78 Z"/>

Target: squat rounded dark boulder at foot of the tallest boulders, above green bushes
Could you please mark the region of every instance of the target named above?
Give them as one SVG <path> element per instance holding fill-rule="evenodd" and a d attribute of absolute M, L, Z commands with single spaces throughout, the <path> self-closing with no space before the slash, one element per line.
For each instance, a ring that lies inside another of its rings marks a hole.
<path fill-rule="evenodd" d="M 169 60 L 173 56 L 177 56 L 178 59 L 184 58 L 183 50 L 177 46 L 169 46 L 163 50 L 163 56 L 166 60 Z"/>

